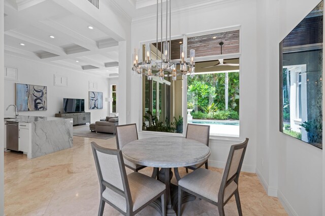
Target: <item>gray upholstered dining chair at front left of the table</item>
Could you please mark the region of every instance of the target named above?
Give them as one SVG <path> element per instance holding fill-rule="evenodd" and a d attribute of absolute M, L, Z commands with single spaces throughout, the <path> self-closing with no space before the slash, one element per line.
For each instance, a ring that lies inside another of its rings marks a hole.
<path fill-rule="evenodd" d="M 91 142 L 101 188 L 98 215 L 105 202 L 123 215 L 135 215 L 160 197 L 161 215 L 166 215 L 166 185 L 139 172 L 126 175 L 121 150 L 107 149 Z"/>

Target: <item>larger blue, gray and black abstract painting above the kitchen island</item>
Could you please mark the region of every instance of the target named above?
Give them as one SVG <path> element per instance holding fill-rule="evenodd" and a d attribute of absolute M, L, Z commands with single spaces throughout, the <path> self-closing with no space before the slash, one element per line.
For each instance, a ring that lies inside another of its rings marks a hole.
<path fill-rule="evenodd" d="M 47 87 L 16 83 L 18 111 L 47 110 Z"/>

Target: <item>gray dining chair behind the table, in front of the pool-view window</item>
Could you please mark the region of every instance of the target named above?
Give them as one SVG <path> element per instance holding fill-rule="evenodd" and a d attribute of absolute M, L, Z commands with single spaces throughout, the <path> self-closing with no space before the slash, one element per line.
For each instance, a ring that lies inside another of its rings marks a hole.
<path fill-rule="evenodd" d="M 210 125 L 202 125 L 202 124 L 187 124 L 186 129 L 186 139 L 196 140 L 200 143 L 206 144 L 209 146 L 209 136 L 210 136 Z M 208 160 L 191 165 L 186 166 L 186 173 L 188 172 L 188 169 L 196 170 L 197 168 L 200 168 L 205 164 L 205 168 L 208 169 Z"/>

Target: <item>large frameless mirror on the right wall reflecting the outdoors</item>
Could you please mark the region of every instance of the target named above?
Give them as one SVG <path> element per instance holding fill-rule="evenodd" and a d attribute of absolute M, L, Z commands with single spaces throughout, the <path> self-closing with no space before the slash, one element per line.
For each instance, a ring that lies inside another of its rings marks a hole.
<path fill-rule="evenodd" d="M 322 149 L 323 1 L 280 42 L 280 132 Z"/>

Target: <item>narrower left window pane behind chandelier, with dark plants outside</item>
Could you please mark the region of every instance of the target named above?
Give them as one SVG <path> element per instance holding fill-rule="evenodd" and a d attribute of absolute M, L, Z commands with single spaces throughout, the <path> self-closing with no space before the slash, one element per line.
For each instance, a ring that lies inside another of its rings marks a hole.
<path fill-rule="evenodd" d="M 171 59 L 179 58 L 179 45 L 182 41 L 183 39 L 171 41 Z M 160 43 L 158 46 L 151 44 L 152 60 L 160 59 L 160 50 Z M 159 77 L 152 76 L 152 80 L 148 80 L 143 75 L 142 87 L 142 129 L 183 133 L 183 77 L 177 77 L 177 80 L 172 81 L 171 77 L 160 80 Z"/>

